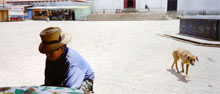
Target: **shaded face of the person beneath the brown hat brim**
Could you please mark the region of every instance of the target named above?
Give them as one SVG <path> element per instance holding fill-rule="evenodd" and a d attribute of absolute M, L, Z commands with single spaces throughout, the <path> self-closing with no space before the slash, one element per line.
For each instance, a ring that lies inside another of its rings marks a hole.
<path fill-rule="evenodd" d="M 46 56 L 48 60 L 55 61 L 62 55 L 62 53 L 63 53 L 62 48 L 59 48 L 53 52 L 46 53 Z"/>

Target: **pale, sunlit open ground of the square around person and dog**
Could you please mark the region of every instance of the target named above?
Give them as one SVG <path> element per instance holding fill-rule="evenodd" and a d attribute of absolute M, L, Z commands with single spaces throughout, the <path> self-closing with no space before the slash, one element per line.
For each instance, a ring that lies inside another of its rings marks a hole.
<path fill-rule="evenodd" d="M 43 84 L 45 55 L 38 51 L 39 33 L 49 26 L 59 26 L 72 35 L 68 46 L 94 69 L 96 94 L 220 93 L 220 48 L 158 36 L 177 33 L 179 20 L 2 22 L 0 87 Z M 179 47 L 199 58 L 190 66 L 189 79 L 171 69 L 172 51 Z"/>

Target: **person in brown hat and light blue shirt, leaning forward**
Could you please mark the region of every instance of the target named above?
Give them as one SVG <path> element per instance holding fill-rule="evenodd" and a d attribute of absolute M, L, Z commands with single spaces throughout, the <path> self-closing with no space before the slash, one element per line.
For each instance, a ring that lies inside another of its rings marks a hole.
<path fill-rule="evenodd" d="M 67 47 L 69 34 L 58 27 L 49 27 L 40 33 L 39 51 L 46 54 L 44 86 L 60 86 L 93 92 L 94 71 L 74 49 Z"/>

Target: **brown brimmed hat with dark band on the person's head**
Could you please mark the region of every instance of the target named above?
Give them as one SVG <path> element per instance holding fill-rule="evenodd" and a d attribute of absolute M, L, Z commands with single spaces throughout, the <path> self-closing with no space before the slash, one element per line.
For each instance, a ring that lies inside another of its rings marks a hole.
<path fill-rule="evenodd" d="M 52 52 L 63 45 L 66 45 L 70 40 L 71 36 L 69 34 L 63 33 L 59 27 L 49 27 L 44 29 L 40 33 L 42 42 L 39 46 L 39 51 L 41 53 Z"/>

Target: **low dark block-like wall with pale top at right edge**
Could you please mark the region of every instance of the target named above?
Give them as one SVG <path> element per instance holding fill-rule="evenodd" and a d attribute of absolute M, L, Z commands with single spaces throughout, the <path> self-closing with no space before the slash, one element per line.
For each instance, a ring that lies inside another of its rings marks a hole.
<path fill-rule="evenodd" d="M 219 21 L 217 16 L 185 16 L 180 18 L 180 34 L 219 41 Z"/>

